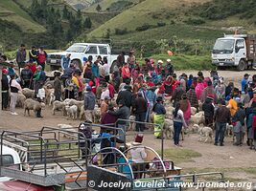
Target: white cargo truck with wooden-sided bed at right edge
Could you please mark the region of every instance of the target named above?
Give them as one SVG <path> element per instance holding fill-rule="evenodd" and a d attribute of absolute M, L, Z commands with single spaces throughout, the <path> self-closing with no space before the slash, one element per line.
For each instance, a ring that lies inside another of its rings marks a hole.
<path fill-rule="evenodd" d="M 247 34 L 224 35 L 218 38 L 212 51 L 212 64 L 236 67 L 239 71 L 256 64 L 256 36 Z"/>

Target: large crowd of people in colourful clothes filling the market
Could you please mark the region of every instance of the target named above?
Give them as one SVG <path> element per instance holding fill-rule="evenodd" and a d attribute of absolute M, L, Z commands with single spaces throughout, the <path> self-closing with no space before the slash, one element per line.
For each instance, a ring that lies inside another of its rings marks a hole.
<path fill-rule="evenodd" d="M 23 88 L 34 89 L 35 98 L 42 101 L 38 92 L 46 80 L 46 58 L 47 53 L 42 47 L 38 51 L 32 47 L 29 61 L 26 62 L 25 45 L 20 46 L 16 55 L 18 73 L 15 73 L 12 63 L 3 69 L 3 110 L 7 110 L 9 105 L 9 91 L 12 115 L 17 115 L 15 100 Z M 6 57 L 2 55 L 1 59 L 6 60 Z M 175 108 L 175 146 L 181 146 L 179 135 L 182 128 L 189 128 L 191 107 L 194 107 L 204 112 L 204 125 L 216 130 L 215 145 L 223 146 L 226 124 L 232 123 L 236 135 L 234 144 L 242 145 L 242 137 L 246 133 L 247 144 L 251 149 L 256 149 L 256 74 L 244 74 L 241 87 L 235 87 L 233 82 L 226 85 L 217 71 L 211 71 L 209 77 L 202 72 L 196 76 L 177 76 L 171 59 L 164 63 L 146 58 L 141 65 L 136 62 L 133 51 L 128 54 L 128 60 L 125 60 L 125 53 L 118 56 L 117 68 L 112 74 L 109 73 L 106 57 L 100 55 L 96 60 L 92 56 L 84 57 L 80 68 L 70 61 L 70 54 L 67 54 L 62 58 L 61 67 L 62 74 L 55 73 L 56 100 L 84 100 L 86 121 L 93 121 L 93 111 L 98 104 L 102 124 L 113 124 L 118 120 L 117 126 L 126 132 L 126 119 L 134 115 L 135 121 L 139 121 L 136 122 L 135 131 L 141 133 L 148 128 L 146 123 L 151 121 L 151 114 L 154 114 L 153 121 L 158 124 L 154 127 L 154 136 L 162 138 L 165 102 L 170 100 Z M 117 97 L 113 102 L 115 94 Z M 124 139 L 124 133 L 120 139 Z"/>

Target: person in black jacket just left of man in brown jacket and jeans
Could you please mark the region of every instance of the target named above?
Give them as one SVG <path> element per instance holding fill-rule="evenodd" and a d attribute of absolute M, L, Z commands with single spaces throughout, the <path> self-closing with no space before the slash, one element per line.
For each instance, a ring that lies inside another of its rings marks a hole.
<path fill-rule="evenodd" d="M 214 117 L 214 106 L 213 106 L 213 97 L 207 96 L 205 102 L 202 104 L 202 111 L 204 112 L 205 125 L 210 127 L 213 126 L 213 117 Z"/>

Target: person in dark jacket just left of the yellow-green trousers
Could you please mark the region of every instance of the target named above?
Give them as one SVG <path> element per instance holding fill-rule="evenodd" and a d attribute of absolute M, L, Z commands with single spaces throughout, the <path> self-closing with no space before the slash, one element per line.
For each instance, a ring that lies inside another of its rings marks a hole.
<path fill-rule="evenodd" d="M 140 122 L 145 122 L 146 113 L 148 109 L 148 103 L 145 98 L 142 96 L 142 93 L 138 93 L 138 97 L 134 100 L 133 111 L 135 114 L 135 120 Z M 145 129 L 145 124 L 136 123 L 136 131 L 143 132 Z"/>

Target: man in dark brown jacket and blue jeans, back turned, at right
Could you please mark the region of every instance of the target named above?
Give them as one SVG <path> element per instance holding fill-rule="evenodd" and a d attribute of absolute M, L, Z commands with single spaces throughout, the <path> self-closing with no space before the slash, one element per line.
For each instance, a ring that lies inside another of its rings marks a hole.
<path fill-rule="evenodd" d="M 231 123 L 231 114 L 230 111 L 226 108 L 225 100 L 221 100 L 219 103 L 219 108 L 216 110 L 214 115 L 214 119 L 216 122 L 216 134 L 215 134 L 215 143 L 214 145 L 218 145 L 219 141 L 221 142 L 221 146 L 223 145 L 224 134 L 226 123 Z"/>

